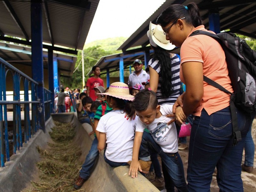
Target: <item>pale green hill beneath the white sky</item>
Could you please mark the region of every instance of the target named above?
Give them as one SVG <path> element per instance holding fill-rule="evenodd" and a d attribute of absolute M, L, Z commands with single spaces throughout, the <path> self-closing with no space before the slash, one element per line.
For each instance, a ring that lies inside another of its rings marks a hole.
<path fill-rule="evenodd" d="M 122 51 L 116 51 L 127 39 L 127 37 L 114 37 L 114 38 L 107 38 L 102 40 L 96 40 L 91 43 L 85 44 L 84 49 L 93 46 L 100 46 L 105 51 L 111 51 L 113 53 L 118 53 Z"/>

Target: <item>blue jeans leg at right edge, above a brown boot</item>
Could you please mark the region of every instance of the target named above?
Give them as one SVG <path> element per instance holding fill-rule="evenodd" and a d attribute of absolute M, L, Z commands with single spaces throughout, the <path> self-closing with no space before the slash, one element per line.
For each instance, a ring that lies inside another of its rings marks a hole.
<path fill-rule="evenodd" d="M 252 119 L 253 120 L 253 119 Z M 245 151 L 245 157 L 244 157 L 244 165 L 248 167 L 253 167 L 253 160 L 254 160 L 254 143 L 252 140 L 252 124 L 250 126 L 250 129 L 248 133 L 246 134 L 245 138 L 245 145 L 244 145 L 244 151 Z"/>

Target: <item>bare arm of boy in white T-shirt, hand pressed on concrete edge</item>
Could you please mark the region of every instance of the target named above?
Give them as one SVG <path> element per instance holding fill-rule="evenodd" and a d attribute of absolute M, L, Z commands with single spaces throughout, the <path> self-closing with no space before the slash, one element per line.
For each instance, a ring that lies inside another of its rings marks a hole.
<path fill-rule="evenodd" d="M 135 132 L 135 138 L 133 142 L 133 150 L 132 150 L 132 163 L 129 169 L 129 175 L 132 178 L 138 177 L 138 168 L 142 171 L 139 163 L 139 150 L 140 150 L 140 143 L 142 140 L 143 132 Z"/>

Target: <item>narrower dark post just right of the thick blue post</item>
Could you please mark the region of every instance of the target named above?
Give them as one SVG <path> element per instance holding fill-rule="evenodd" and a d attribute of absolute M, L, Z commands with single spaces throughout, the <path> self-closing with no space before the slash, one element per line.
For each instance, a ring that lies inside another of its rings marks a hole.
<path fill-rule="evenodd" d="M 53 70 L 53 51 L 52 49 L 48 49 L 48 71 L 49 71 L 49 90 L 54 93 L 54 70 Z M 54 103 L 54 94 L 51 94 L 52 103 Z M 54 108 L 52 108 L 51 104 L 51 112 L 54 112 Z"/>

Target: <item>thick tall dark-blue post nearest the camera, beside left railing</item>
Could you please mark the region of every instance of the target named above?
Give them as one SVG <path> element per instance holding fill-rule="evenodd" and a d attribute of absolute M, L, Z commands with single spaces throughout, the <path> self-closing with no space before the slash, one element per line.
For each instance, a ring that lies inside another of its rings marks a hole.
<path fill-rule="evenodd" d="M 32 78 L 38 82 L 37 97 L 40 100 L 38 107 L 38 120 L 40 128 L 45 132 L 44 116 L 44 69 L 43 69 L 43 26 L 42 3 L 31 2 L 31 52 L 32 52 Z"/>

